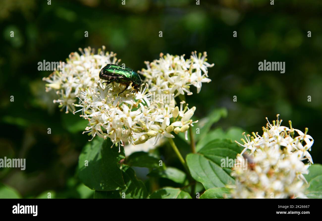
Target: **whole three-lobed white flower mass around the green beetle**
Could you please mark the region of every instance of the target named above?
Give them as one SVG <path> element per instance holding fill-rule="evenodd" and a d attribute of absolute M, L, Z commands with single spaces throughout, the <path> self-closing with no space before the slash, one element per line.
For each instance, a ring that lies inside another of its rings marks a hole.
<path fill-rule="evenodd" d="M 116 54 L 104 50 L 103 46 L 102 51 L 94 54 L 89 47 L 80 49 L 82 55 L 71 53 L 63 74 L 56 71 L 43 79 L 48 82 L 47 91 L 54 89 L 59 95 L 55 103 L 66 108 L 66 113 L 81 111 L 81 117 L 89 121 L 83 133 L 88 132 L 92 138 L 96 135 L 109 138 L 118 148 L 124 143 L 142 144 L 151 137 L 155 137 L 155 145 L 162 137 L 173 138 L 171 132 L 185 133 L 187 137 L 196 108 L 189 108 L 184 100 L 176 105 L 171 98 L 175 92 L 192 94 L 189 85 L 196 86 L 199 92 L 202 82 L 210 82 L 207 68 L 213 65 L 206 62 L 207 54 L 197 57 L 193 52 L 186 61 L 184 55 L 166 55 L 148 65 L 148 70 L 142 70 L 146 79 L 139 92 L 132 93 L 130 85 L 118 95 L 124 85 L 115 82 L 103 85 L 99 79 L 101 68 L 120 61 Z M 77 98 L 79 103 L 75 104 Z M 81 109 L 75 111 L 74 106 Z"/>

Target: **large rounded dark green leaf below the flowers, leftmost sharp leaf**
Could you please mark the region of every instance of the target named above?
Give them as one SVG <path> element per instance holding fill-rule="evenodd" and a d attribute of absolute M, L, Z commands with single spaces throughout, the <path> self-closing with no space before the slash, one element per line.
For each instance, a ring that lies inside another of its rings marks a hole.
<path fill-rule="evenodd" d="M 124 152 L 118 153 L 118 147 L 110 146 L 110 141 L 97 137 L 83 148 L 79 156 L 79 177 L 90 189 L 110 191 L 124 187 L 122 171 L 117 165 L 124 158 Z"/>

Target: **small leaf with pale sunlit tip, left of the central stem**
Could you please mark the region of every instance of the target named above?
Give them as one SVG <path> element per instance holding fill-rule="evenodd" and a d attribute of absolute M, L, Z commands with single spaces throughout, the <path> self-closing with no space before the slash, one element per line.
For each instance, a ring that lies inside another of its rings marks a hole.
<path fill-rule="evenodd" d="M 166 167 L 165 170 L 155 169 L 152 170 L 147 176 L 166 178 L 180 184 L 185 182 L 186 178 L 186 174 L 175 167 Z"/>

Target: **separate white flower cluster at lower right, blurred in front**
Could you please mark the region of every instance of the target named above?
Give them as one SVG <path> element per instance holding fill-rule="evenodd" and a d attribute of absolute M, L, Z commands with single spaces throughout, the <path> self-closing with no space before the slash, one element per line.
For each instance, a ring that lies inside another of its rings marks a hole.
<path fill-rule="evenodd" d="M 266 118 L 267 119 L 267 118 Z M 243 134 L 245 147 L 237 160 L 248 159 L 248 168 L 234 167 L 232 176 L 236 186 L 232 189 L 234 198 L 306 198 L 303 194 L 307 183 L 303 174 L 308 174 L 308 167 L 313 164 L 308 153 L 314 140 L 305 133 L 292 128 L 281 126 L 282 120 L 268 122 L 263 127 L 263 135 L 252 133 Z M 295 136 L 297 132 L 298 136 Z M 308 160 L 305 165 L 302 161 Z"/>

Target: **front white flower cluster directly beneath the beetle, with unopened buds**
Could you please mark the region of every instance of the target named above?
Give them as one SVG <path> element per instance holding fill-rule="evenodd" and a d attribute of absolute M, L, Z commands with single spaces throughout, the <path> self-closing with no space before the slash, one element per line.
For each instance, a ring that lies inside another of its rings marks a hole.
<path fill-rule="evenodd" d="M 174 138 L 172 131 L 178 134 L 193 126 L 190 118 L 195 107 L 183 108 L 182 102 L 179 109 L 175 100 L 172 103 L 150 101 L 147 85 L 138 93 L 131 93 L 130 88 L 118 95 L 122 89 L 117 83 L 103 85 L 99 81 L 97 87 L 81 92 L 81 103 L 75 106 L 81 107 L 81 116 L 89 121 L 85 128 L 89 135 L 109 137 L 119 148 L 123 142 L 135 145 L 150 137 L 155 137 L 155 145 L 163 136 Z"/>

